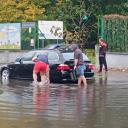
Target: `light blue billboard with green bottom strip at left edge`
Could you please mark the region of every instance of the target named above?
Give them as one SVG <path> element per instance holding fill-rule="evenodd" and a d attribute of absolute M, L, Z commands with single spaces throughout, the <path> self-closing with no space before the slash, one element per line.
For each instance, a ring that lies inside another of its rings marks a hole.
<path fill-rule="evenodd" d="M 21 24 L 1 23 L 0 24 L 0 49 L 21 48 Z"/>

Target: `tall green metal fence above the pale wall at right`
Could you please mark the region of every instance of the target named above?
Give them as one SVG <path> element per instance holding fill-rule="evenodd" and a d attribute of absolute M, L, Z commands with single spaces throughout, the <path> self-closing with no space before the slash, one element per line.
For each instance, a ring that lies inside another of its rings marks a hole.
<path fill-rule="evenodd" d="M 108 51 L 128 52 L 128 18 L 100 17 L 98 36 L 108 43 Z"/>

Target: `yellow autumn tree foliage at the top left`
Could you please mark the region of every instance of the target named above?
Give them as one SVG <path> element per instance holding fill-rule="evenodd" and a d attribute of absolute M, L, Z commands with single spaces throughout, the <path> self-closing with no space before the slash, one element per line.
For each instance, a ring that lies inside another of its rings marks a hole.
<path fill-rule="evenodd" d="M 31 0 L 1 0 L 0 22 L 35 21 L 43 16 L 44 8 Z"/>

